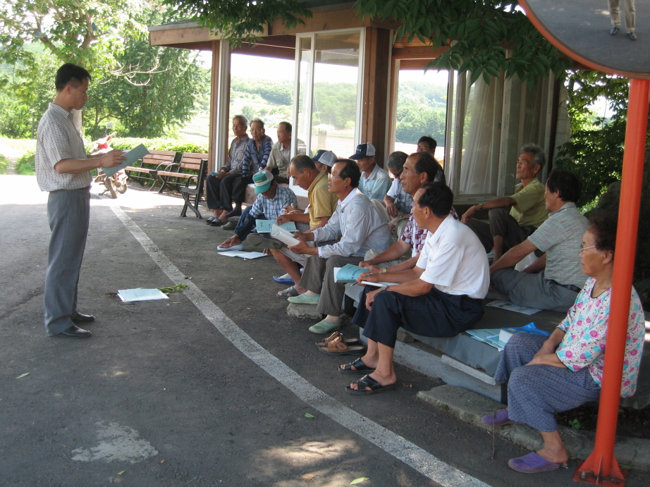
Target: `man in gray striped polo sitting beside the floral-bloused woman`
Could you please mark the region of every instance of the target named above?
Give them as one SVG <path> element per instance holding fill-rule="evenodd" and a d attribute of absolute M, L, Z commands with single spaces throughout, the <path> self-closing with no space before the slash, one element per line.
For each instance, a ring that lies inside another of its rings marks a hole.
<path fill-rule="evenodd" d="M 492 283 L 520 306 L 566 312 L 587 280 L 580 269 L 580 242 L 587 218 L 576 208 L 580 180 L 553 169 L 546 180 L 546 209 L 551 213 L 532 235 L 490 266 Z M 546 252 L 524 271 L 507 269 L 536 250 Z M 539 273 L 535 273 L 541 271 Z"/>

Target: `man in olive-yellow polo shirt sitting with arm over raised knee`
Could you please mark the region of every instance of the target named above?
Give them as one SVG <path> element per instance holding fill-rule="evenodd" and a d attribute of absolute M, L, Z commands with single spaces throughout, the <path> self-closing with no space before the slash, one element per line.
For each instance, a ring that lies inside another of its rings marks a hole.
<path fill-rule="evenodd" d="M 546 154 L 535 144 L 525 144 L 517 158 L 515 177 L 521 184 L 515 187 L 515 194 L 492 199 L 482 204 L 470 206 L 462 215 L 466 223 L 477 234 L 486 252 L 494 249 L 493 262 L 501 258 L 508 249 L 526 240 L 548 218 L 546 211 L 545 187 L 537 179 L 544 167 Z M 490 223 L 472 220 L 480 209 L 489 209 Z"/>

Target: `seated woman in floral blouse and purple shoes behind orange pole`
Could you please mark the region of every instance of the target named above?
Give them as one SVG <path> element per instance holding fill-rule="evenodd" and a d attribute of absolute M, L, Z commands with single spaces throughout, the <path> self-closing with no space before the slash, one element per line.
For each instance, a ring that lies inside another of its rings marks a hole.
<path fill-rule="evenodd" d="M 544 440 L 541 450 L 510 459 L 508 465 L 512 469 L 527 474 L 558 469 L 568 460 L 568 453 L 558 433 L 555 413 L 599 398 L 615 231 L 615 214 L 591 218 L 580 247 L 582 272 L 589 278 L 566 318 L 548 339 L 532 333 L 516 333 L 503 350 L 494 377 L 508 382 L 508 409 L 484 416 L 482 421 L 491 426 L 528 424 L 538 429 Z M 636 390 L 644 331 L 643 309 L 632 288 L 621 397 L 628 397 Z"/>

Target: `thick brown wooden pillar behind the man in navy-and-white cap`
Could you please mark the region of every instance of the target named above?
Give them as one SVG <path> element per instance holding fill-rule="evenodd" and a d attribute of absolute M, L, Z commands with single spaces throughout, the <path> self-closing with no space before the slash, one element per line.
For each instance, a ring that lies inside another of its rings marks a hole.
<path fill-rule="evenodd" d="M 366 27 L 363 64 L 362 118 L 360 142 L 372 142 L 380 167 L 388 153 L 388 90 L 391 75 L 391 31 Z"/>

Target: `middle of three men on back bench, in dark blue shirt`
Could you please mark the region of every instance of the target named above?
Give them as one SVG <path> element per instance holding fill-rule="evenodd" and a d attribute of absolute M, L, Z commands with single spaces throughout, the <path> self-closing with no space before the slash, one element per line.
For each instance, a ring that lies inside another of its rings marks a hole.
<path fill-rule="evenodd" d="M 242 203 L 246 197 L 247 185 L 253 182 L 253 174 L 266 168 L 266 162 L 269 161 L 273 140 L 265 134 L 264 122 L 259 118 L 253 118 L 251 121 L 250 136 L 252 139 L 246 144 L 241 174 L 227 176 L 227 178 L 233 177 L 234 179 L 231 186 L 232 192 L 223 191 L 223 187 L 221 188 L 221 209 L 226 211 L 210 223 L 212 226 L 221 226 L 231 216 L 242 214 Z M 234 209 L 231 203 L 233 200 L 235 201 Z"/>

